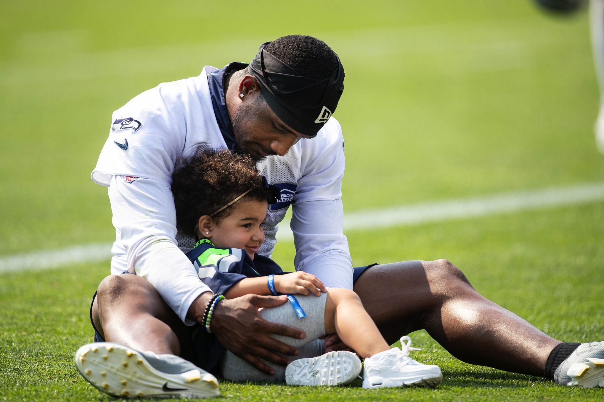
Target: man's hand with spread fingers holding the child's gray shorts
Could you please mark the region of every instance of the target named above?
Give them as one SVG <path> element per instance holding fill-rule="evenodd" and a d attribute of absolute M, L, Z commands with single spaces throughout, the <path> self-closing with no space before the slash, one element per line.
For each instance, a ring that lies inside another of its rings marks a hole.
<path fill-rule="evenodd" d="M 269 334 L 291 336 L 296 339 L 304 339 L 306 334 L 287 325 L 266 321 L 260 316 L 258 309 L 279 306 L 286 301 L 284 295 L 253 294 L 222 300 L 214 309 L 210 329 L 218 341 L 233 354 L 266 374 L 275 374 L 271 366 L 263 363 L 259 357 L 286 366 L 291 363 L 291 360 L 276 352 L 288 356 L 297 356 L 299 352 L 296 348 L 271 338 Z"/>

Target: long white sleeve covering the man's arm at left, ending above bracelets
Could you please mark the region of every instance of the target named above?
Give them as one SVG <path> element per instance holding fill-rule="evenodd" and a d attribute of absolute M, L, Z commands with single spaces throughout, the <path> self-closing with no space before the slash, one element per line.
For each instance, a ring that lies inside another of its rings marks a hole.
<path fill-rule="evenodd" d="M 109 199 L 117 232 L 114 249 L 121 249 L 121 264 L 115 270 L 127 269 L 145 278 L 185 324 L 194 324 L 186 320 L 188 308 L 210 288 L 176 246 L 170 186 L 144 178 L 128 183 L 122 176 L 112 176 Z"/>

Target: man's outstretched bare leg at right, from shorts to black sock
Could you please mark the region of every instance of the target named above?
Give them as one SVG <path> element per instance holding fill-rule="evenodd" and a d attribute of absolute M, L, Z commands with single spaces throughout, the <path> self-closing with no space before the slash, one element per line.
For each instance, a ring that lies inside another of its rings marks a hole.
<path fill-rule="evenodd" d="M 471 364 L 543 376 L 549 354 L 561 343 L 478 294 L 446 260 L 373 266 L 359 277 L 355 292 L 386 341 L 425 328 Z"/>

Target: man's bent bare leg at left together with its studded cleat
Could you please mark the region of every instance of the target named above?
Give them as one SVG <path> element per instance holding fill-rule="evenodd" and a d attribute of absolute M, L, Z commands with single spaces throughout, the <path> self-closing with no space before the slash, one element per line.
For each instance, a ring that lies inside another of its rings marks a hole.
<path fill-rule="evenodd" d="M 104 278 L 91 313 L 106 342 L 83 345 L 74 360 L 99 391 L 126 398 L 220 395 L 216 377 L 190 362 L 188 328 L 143 278 Z"/>

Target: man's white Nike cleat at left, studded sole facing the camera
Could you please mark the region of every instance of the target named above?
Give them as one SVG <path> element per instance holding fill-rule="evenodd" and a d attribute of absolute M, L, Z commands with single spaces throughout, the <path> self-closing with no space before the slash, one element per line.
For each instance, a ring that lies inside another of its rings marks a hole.
<path fill-rule="evenodd" d="M 140 352 L 112 342 L 79 348 L 76 367 L 99 391 L 117 398 L 220 395 L 216 377 L 182 357 Z"/>

